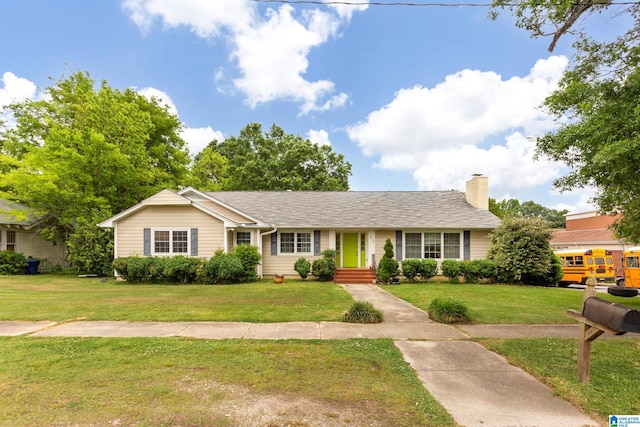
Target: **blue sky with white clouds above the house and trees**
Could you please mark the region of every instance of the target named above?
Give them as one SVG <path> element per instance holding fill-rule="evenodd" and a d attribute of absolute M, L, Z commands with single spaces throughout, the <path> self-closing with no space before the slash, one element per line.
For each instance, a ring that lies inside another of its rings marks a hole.
<path fill-rule="evenodd" d="M 389 2 L 390 3 L 390 2 Z M 417 0 L 416 3 L 426 3 Z M 76 71 L 163 99 L 191 154 L 247 124 L 331 144 L 352 190 L 464 190 L 585 211 L 588 190 L 558 194 L 563 165 L 533 160 L 554 129 L 538 106 L 571 57 L 508 14 L 472 6 L 262 3 L 248 0 L 5 0 L 0 108 L 37 99 Z M 619 22 L 586 25 L 603 36 Z"/>

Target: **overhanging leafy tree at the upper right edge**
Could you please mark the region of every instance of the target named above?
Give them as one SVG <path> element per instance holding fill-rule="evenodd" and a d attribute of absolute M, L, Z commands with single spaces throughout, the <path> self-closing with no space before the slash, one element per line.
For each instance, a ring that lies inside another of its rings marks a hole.
<path fill-rule="evenodd" d="M 533 36 L 552 35 L 551 50 L 563 35 L 576 36 L 571 67 L 544 102 L 559 128 L 537 139 L 538 155 L 570 167 L 557 188 L 594 187 L 604 213 L 622 214 L 618 234 L 640 241 L 640 3 L 499 0 L 494 6 L 510 10 Z M 580 23 L 594 13 L 608 15 L 620 34 L 590 36 Z"/>

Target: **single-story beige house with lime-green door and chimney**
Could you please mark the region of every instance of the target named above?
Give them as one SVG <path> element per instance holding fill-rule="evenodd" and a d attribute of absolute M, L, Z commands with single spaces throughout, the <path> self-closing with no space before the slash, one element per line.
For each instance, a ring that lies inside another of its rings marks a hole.
<path fill-rule="evenodd" d="M 369 268 L 395 257 L 485 258 L 500 220 L 488 210 L 488 180 L 458 191 L 163 190 L 99 225 L 114 228 L 114 256 L 209 258 L 249 243 L 263 256 L 261 277 L 297 275 L 295 261 L 335 249 L 342 268 Z"/>

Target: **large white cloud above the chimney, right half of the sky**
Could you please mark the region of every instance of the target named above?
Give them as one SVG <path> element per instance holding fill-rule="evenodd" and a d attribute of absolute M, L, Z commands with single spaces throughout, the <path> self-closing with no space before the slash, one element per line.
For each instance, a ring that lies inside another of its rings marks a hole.
<path fill-rule="evenodd" d="M 378 167 L 413 171 L 420 189 L 462 189 L 473 173 L 488 175 L 497 192 L 549 183 L 560 166 L 534 162 L 529 137 L 553 128 L 538 107 L 566 65 L 565 57 L 550 57 L 508 80 L 463 70 L 431 89 L 401 89 L 347 132 L 365 155 L 379 157 Z"/>

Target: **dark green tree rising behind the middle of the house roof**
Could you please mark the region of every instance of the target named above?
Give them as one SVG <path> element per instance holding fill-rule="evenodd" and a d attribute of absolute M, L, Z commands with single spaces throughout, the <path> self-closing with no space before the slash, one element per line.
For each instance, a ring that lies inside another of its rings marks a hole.
<path fill-rule="evenodd" d="M 349 189 L 351 164 L 342 154 L 276 125 L 263 132 L 260 124 L 249 124 L 239 136 L 213 141 L 205 150 L 200 161 L 209 161 L 213 152 L 227 159 L 226 166 L 214 159 L 220 164 L 223 190 Z"/>

